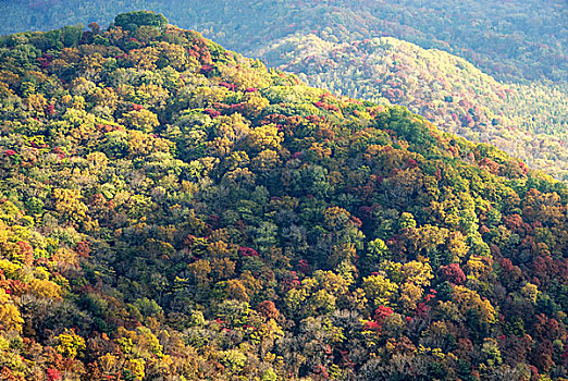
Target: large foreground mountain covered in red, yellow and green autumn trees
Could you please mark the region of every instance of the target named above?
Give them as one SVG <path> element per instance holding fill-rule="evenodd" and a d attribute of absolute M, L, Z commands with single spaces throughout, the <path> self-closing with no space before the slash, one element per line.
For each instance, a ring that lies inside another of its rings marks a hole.
<path fill-rule="evenodd" d="M 0 39 L 2 379 L 566 380 L 565 185 L 115 21 Z"/>

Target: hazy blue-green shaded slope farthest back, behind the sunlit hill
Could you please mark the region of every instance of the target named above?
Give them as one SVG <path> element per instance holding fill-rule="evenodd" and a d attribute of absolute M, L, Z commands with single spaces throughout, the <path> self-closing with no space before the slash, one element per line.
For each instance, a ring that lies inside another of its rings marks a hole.
<path fill-rule="evenodd" d="M 4 0 L 0 33 L 108 25 L 140 9 L 249 54 L 296 33 L 336 42 L 392 36 L 462 57 L 498 79 L 568 78 L 565 0 Z"/>

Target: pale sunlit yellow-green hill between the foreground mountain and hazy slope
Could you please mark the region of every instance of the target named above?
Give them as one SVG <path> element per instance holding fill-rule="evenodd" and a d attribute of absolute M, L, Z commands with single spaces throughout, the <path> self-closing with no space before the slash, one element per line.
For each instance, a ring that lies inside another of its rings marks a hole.
<path fill-rule="evenodd" d="M 312 86 L 406 106 L 444 131 L 568 180 L 566 84 L 504 84 L 464 59 L 392 37 L 350 44 L 288 37 L 259 56 Z"/>

